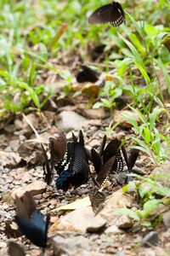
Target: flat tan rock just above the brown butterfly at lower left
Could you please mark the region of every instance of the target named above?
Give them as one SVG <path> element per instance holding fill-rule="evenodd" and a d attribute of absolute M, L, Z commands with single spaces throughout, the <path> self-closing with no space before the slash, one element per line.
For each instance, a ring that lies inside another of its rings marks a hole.
<path fill-rule="evenodd" d="M 15 200 L 15 196 L 21 197 L 26 193 L 26 191 L 29 191 L 31 195 L 38 195 L 42 194 L 44 190 L 46 189 L 47 184 L 42 181 L 35 181 L 31 184 L 26 185 L 25 187 L 14 189 L 14 192 L 12 193 L 12 198 Z"/>

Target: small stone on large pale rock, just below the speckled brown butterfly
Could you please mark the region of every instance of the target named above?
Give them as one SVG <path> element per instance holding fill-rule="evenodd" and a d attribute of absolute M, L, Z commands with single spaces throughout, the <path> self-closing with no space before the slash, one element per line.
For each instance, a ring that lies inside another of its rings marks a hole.
<path fill-rule="evenodd" d="M 88 221 L 89 226 L 87 227 L 86 230 L 92 233 L 98 232 L 99 230 L 105 227 L 105 224 L 106 224 L 106 220 L 97 215 L 94 218 L 89 219 Z"/>

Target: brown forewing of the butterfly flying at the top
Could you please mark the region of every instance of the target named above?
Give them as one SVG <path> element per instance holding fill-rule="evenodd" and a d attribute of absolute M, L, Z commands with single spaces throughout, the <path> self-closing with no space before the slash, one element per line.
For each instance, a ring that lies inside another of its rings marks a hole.
<path fill-rule="evenodd" d="M 94 13 L 89 17 L 89 24 L 105 24 L 110 22 L 110 10 L 112 9 L 111 3 L 101 6 L 99 9 L 96 9 Z"/>

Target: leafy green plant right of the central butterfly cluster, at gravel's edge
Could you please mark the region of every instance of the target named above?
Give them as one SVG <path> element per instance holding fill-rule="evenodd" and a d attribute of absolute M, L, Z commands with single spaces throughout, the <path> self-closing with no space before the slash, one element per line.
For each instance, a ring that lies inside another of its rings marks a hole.
<path fill-rule="evenodd" d="M 133 125 L 133 131 L 138 137 L 131 137 L 133 139 L 133 143 L 137 143 L 139 146 L 133 146 L 133 148 L 138 148 L 144 153 L 148 154 L 150 160 L 159 164 L 162 160 L 167 158 L 167 149 L 169 148 L 169 139 L 159 133 L 156 129 L 155 124 L 156 121 L 159 122 L 159 113 L 166 113 L 165 108 L 159 108 L 158 106 L 153 109 L 152 113 L 149 113 L 146 109 L 144 109 L 144 113 L 142 111 L 136 110 L 128 105 L 129 108 L 133 110 L 134 113 L 137 114 L 139 118 L 138 121 L 134 119 L 132 116 L 122 115 L 124 119 L 126 119 L 130 124 Z M 127 139 L 126 139 L 127 140 Z M 125 143 L 124 140 L 122 143 Z M 167 148 L 161 147 L 161 140 L 167 143 Z"/>

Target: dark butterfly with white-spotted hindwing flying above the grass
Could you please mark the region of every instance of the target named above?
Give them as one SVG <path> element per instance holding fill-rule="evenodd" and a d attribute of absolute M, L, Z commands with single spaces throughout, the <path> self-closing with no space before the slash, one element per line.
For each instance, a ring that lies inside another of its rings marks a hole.
<path fill-rule="evenodd" d="M 88 22 L 90 24 L 105 24 L 110 22 L 111 26 L 120 26 L 122 22 L 126 24 L 125 13 L 121 4 L 113 1 L 96 9 L 89 17 Z"/>

